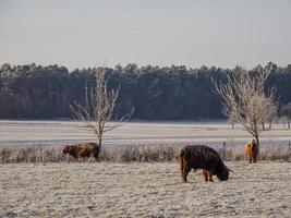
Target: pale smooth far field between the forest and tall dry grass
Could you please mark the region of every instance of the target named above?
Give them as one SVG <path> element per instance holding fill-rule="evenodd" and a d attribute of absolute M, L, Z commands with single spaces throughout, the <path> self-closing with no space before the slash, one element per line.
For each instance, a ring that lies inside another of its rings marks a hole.
<path fill-rule="evenodd" d="M 208 143 L 243 145 L 250 135 L 223 121 L 205 122 L 130 122 L 105 135 L 105 145 Z M 262 134 L 262 145 L 281 145 L 291 140 L 282 124 Z M 72 121 L 0 121 L 0 147 L 58 146 L 81 141 L 95 141 L 94 135 Z"/>

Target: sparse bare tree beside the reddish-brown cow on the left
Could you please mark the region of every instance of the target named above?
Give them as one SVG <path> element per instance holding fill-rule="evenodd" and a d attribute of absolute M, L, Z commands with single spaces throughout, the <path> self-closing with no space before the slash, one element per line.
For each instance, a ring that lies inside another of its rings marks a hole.
<path fill-rule="evenodd" d="M 85 106 L 77 102 L 70 105 L 71 111 L 81 121 L 82 128 L 92 131 L 97 136 L 100 147 L 102 145 L 104 134 L 123 125 L 124 122 L 129 121 L 134 111 L 133 108 L 130 113 L 109 123 L 119 92 L 120 86 L 117 89 L 108 90 L 105 72 L 97 72 L 95 86 L 89 92 L 87 86 L 85 88 Z"/>

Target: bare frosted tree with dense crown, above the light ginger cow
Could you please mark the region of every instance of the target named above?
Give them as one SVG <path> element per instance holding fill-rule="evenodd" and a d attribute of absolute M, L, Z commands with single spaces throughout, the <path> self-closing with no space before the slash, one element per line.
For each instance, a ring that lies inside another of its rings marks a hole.
<path fill-rule="evenodd" d="M 251 75 L 246 70 L 235 68 L 233 75 L 228 75 L 227 83 L 215 83 L 215 88 L 222 98 L 223 114 L 242 124 L 258 146 L 263 123 L 278 108 L 275 89 L 264 92 L 270 71 L 271 68 Z"/>

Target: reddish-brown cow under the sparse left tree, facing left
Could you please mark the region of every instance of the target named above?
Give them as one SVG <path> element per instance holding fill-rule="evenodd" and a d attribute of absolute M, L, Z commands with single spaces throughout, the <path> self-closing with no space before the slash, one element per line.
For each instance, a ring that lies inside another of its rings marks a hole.
<path fill-rule="evenodd" d="M 100 147 L 96 143 L 83 143 L 76 145 L 66 145 L 63 148 L 63 154 L 69 154 L 77 161 L 81 157 L 94 156 L 99 161 Z"/>

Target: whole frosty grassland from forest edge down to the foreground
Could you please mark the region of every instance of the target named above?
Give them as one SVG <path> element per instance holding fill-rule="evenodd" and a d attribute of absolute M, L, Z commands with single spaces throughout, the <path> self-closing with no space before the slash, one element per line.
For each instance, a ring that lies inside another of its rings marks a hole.
<path fill-rule="evenodd" d="M 291 132 L 281 125 L 263 133 L 253 165 L 243 161 L 250 136 L 225 122 L 131 122 L 106 135 L 101 162 L 62 154 L 95 141 L 75 122 L 1 121 L 0 133 L 0 217 L 290 217 Z M 177 154 L 198 143 L 239 160 L 226 161 L 229 181 L 192 171 L 182 183 Z"/>

